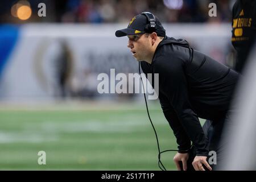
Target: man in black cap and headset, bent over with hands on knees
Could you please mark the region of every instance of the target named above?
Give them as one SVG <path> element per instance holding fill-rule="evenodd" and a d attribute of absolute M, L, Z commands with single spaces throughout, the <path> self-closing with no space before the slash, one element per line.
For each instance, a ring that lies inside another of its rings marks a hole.
<path fill-rule="evenodd" d="M 221 159 L 218 142 L 239 74 L 187 41 L 166 36 L 159 19 L 148 12 L 134 16 L 115 36 L 128 36 L 127 47 L 144 73 L 159 74 L 160 104 L 178 144 L 177 169 L 182 162 L 183 170 L 212 170 L 208 154 L 216 151 L 217 163 Z M 209 120 L 201 127 L 198 117 Z"/>

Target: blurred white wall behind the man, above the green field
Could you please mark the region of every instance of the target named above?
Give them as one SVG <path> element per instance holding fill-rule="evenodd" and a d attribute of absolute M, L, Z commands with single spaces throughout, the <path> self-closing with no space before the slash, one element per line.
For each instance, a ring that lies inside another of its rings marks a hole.
<path fill-rule="evenodd" d="M 71 52 L 69 90 L 97 92 L 97 74 L 138 72 L 127 38 L 115 30 L 126 24 L 26 24 L 0 82 L 0 100 L 51 100 L 56 93 L 56 57 L 64 40 Z M 185 38 L 195 49 L 224 63 L 230 49 L 230 24 L 164 24 L 167 35 Z M 86 76 L 85 76 L 86 74 Z"/>

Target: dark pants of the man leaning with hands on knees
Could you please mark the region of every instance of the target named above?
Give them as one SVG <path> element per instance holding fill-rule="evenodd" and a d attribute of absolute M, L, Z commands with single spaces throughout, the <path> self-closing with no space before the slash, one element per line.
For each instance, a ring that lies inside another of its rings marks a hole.
<path fill-rule="evenodd" d="M 207 120 L 203 125 L 203 131 L 208 140 L 209 151 L 215 151 L 217 154 L 216 155 L 217 164 L 212 164 L 212 165 L 210 164 L 210 167 L 212 167 L 213 170 L 216 169 L 220 161 L 224 159 L 224 150 L 226 150 L 225 149 L 226 145 L 224 143 L 221 143 L 223 138 L 222 130 L 224 129 L 224 126 L 231 124 L 229 115 L 230 113 L 227 114 L 224 118 L 218 119 L 217 121 Z M 196 147 L 192 146 L 191 152 L 189 152 L 189 159 L 187 161 L 188 171 L 195 170 L 192 166 L 192 162 L 195 156 L 196 156 Z M 208 156 L 207 161 L 209 161 L 210 157 L 211 156 Z"/>

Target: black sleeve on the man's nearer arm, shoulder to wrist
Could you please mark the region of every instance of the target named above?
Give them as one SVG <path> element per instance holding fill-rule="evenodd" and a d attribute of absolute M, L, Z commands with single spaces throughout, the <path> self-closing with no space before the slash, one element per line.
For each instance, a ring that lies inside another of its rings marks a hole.
<path fill-rule="evenodd" d="M 159 73 L 159 88 L 168 97 L 177 118 L 188 137 L 197 148 L 197 155 L 208 156 L 208 142 L 199 118 L 193 112 L 189 102 L 187 80 L 183 71 L 183 59 L 180 56 L 156 57 L 154 72 Z"/>

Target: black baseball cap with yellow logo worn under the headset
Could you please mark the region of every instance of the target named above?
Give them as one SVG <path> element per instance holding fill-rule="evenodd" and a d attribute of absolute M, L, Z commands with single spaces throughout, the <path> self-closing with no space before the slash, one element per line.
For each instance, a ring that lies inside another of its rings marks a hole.
<path fill-rule="evenodd" d="M 134 16 L 127 28 L 117 30 L 115 32 L 115 36 L 121 37 L 126 35 L 138 35 L 144 33 L 152 33 L 147 30 L 147 26 L 150 24 L 148 22 L 147 16 L 144 14 L 138 14 Z M 155 31 L 158 36 L 166 36 L 166 30 L 164 30 L 162 24 L 160 23 L 158 18 L 155 18 Z"/>

